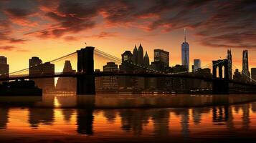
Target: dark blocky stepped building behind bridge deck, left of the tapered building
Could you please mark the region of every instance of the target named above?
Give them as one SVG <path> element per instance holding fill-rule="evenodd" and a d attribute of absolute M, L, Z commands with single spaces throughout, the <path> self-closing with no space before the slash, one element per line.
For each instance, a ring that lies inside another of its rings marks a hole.
<path fill-rule="evenodd" d="M 29 59 L 29 76 L 38 74 L 54 74 L 54 64 L 49 62 L 42 64 L 42 60 L 39 57 L 33 56 L 32 59 Z M 37 87 L 44 91 L 54 90 L 54 77 L 32 80 L 34 80 Z"/>

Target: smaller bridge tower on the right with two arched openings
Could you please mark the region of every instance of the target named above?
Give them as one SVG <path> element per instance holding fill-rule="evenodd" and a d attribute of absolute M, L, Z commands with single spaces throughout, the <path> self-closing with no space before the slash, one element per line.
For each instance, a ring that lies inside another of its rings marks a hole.
<path fill-rule="evenodd" d="M 224 67 L 224 75 L 222 74 Z M 217 71 L 217 69 L 219 69 Z M 219 72 L 219 77 L 217 77 Z M 212 61 L 212 93 L 213 94 L 229 94 L 229 69 L 227 59 L 219 59 Z"/>

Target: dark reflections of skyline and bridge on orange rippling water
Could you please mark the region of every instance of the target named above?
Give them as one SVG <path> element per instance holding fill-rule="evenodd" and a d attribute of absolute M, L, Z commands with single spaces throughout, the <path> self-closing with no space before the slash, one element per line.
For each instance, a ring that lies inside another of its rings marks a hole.
<path fill-rule="evenodd" d="M 131 132 L 133 135 L 141 136 L 148 132 L 148 126 L 152 125 L 152 132 L 155 137 L 170 136 L 176 134 L 171 132 L 178 127 L 181 129 L 182 137 L 189 137 L 193 132 L 193 125 L 205 124 L 209 120 L 212 126 L 226 124 L 229 132 L 239 132 L 237 127 L 242 130 L 250 129 L 250 117 L 256 103 L 237 104 L 232 106 L 219 107 L 196 107 L 196 108 L 171 108 L 171 109 L 93 109 L 93 102 L 83 109 L 42 109 L 29 108 L 28 120 L 31 129 L 40 129 L 40 126 L 47 124 L 49 127 L 58 124 L 60 119 L 66 124 L 75 122 L 75 132 L 78 134 L 95 135 L 95 128 L 100 119 L 105 118 L 106 124 L 118 124 L 118 128 L 125 132 Z M 60 110 L 61 114 L 54 114 Z M 15 124 L 15 120 L 10 118 L 12 109 L 0 108 L 0 129 L 8 129 L 7 124 Z M 236 113 L 237 112 L 237 113 Z M 174 116 L 171 116 L 174 114 Z M 57 117 L 56 117 L 57 116 Z M 75 116 L 75 118 L 71 118 Z M 75 120 L 74 120 L 75 119 Z M 10 122 L 12 121 L 12 122 Z M 101 121 L 101 120 L 100 120 Z M 234 122 L 235 121 L 235 122 Z M 241 122 L 240 122 L 241 121 Z M 210 122 L 207 124 L 210 125 Z M 152 124 L 151 124 L 152 123 Z M 74 124 L 74 123 L 72 123 Z M 240 126 L 241 125 L 241 126 Z M 192 128 L 191 128 L 192 127 Z M 109 127 L 111 129 L 111 126 Z"/>

